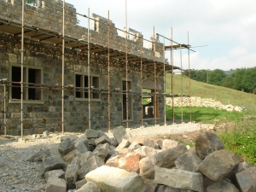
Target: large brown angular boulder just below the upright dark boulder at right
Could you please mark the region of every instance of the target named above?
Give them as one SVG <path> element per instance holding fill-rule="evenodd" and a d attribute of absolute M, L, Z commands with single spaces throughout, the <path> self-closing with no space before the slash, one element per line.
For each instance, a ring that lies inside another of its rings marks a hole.
<path fill-rule="evenodd" d="M 218 150 L 209 154 L 200 164 L 199 170 L 214 182 L 221 181 L 243 160 L 228 150 Z"/>

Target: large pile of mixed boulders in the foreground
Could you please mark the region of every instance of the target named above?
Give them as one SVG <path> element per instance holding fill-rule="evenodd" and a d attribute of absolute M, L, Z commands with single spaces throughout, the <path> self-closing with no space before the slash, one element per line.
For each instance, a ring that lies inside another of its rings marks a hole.
<path fill-rule="evenodd" d="M 29 157 L 41 161 L 39 177 L 46 192 L 185 192 L 256 191 L 256 167 L 224 149 L 218 137 L 204 131 L 195 147 L 169 139 L 131 136 L 123 126 L 113 137 L 86 130 L 61 137 Z"/>

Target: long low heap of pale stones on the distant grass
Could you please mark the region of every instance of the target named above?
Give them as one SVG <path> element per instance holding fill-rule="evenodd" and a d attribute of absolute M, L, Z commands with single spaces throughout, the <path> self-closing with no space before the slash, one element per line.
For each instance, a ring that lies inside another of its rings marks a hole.
<path fill-rule="evenodd" d="M 172 97 L 166 98 L 166 105 L 172 106 Z M 217 108 L 220 110 L 226 110 L 229 112 L 238 111 L 241 112 L 242 108 L 233 105 L 224 105 L 221 102 L 215 101 L 211 98 L 201 98 L 198 96 L 178 96 L 174 97 L 174 107 L 205 107 L 205 108 Z"/>

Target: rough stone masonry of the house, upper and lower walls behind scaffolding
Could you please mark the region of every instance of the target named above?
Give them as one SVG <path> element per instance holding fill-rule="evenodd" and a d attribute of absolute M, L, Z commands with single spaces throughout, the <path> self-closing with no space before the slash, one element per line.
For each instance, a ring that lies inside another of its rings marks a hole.
<path fill-rule="evenodd" d="M 25 29 L 24 39 L 24 81 L 25 83 L 37 84 L 32 88 L 25 88 L 23 100 L 23 134 L 42 134 L 44 131 L 61 130 L 61 90 L 56 86 L 61 85 L 62 52 L 61 44 L 47 44 L 46 40 L 35 40 L 33 37 L 44 36 L 39 31 L 55 33 L 62 37 L 62 2 L 56 0 L 38 1 L 37 6 L 25 4 L 24 20 L 27 27 L 36 31 L 34 36 L 29 36 Z M 8 79 L 6 87 L 6 117 L 7 134 L 20 135 L 20 27 L 12 33 L 15 25 L 21 25 L 21 0 L 0 0 L 0 79 Z M 90 30 L 90 43 L 98 46 L 108 47 L 108 25 L 110 26 L 109 44 L 111 49 L 125 51 L 125 38 L 119 36 L 114 28 L 112 20 L 103 18 L 100 15 L 92 15 L 95 22 L 94 29 Z M 78 19 L 76 9 L 72 4 L 65 4 L 65 37 L 87 39 L 87 28 L 77 25 Z M 1 31 L 3 30 L 3 31 Z M 130 29 L 129 29 L 130 30 Z M 140 56 L 141 43 L 138 40 L 139 32 L 134 33 L 134 38 L 127 39 L 128 52 Z M 165 58 L 163 44 L 152 38 L 154 50 L 143 47 L 143 59 L 148 61 L 162 62 Z M 67 43 L 68 44 L 68 43 Z M 96 50 L 94 50 L 96 51 Z M 155 53 L 154 53 L 155 51 Z M 92 51 L 93 52 L 93 51 Z M 65 48 L 65 86 L 89 87 L 88 78 L 88 54 L 86 49 L 77 50 Z M 150 64 L 150 63 L 149 63 Z M 151 63 L 152 64 L 152 63 Z M 161 66 L 161 65 L 160 65 Z M 128 81 L 132 91 L 141 91 L 140 66 L 134 61 L 128 62 Z M 110 58 L 110 90 L 124 90 L 125 82 L 125 61 Z M 154 90 L 154 81 L 157 81 L 157 92 L 163 93 L 163 69 L 157 68 L 157 77 L 154 73 L 143 67 L 143 88 Z M 90 54 L 90 78 L 91 86 L 97 89 L 108 90 L 108 56 Z M 85 79 L 85 80 L 84 80 Z M 25 84 L 26 85 L 26 84 Z M 15 87 L 16 86 L 16 87 Z M 3 108 L 3 86 L 0 86 L 1 102 L 0 111 Z M 112 92 L 110 98 L 111 127 L 125 125 L 125 102 L 120 93 Z M 142 97 L 139 94 L 129 96 L 129 125 L 137 127 L 141 125 L 142 119 Z M 144 119 L 149 124 L 157 121 L 160 124 L 164 121 L 163 109 L 164 100 L 162 96 L 157 97 L 157 118 Z M 85 131 L 89 127 L 88 96 L 86 93 L 69 89 L 64 93 L 64 119 L 65 131 Z M 91 96 L 91 128 L 108 127 L 108 94 L 96 92 Z M 155 114 L 156 115 L 156 114 Z M 0 134 L 3 135 L 3 113 L 0 113 Z"/>

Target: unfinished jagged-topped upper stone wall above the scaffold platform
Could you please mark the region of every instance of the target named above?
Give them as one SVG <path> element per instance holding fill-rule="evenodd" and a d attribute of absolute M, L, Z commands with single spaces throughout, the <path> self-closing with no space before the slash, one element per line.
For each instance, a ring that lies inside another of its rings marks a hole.
<path fill-rule="evenodd" d="M 46 29 L 52 32 L 62 33 L 62 2 L 58 0 L 38 1 L 38 7 L 32 5 L 25 5 L 24 22 L 26 26 L 37 26 L 41 29 Z M 55 4 L 55 5 L 54 5 Z M 5 20 L 21 22 L 21 0 L 0 0 L 0 18 Z M 87 13 L 86 13 L 87 14 Z M 85 15 L 86 15 L 85 14 Z M 90 30 L 90 42 L 94 44 L 101 44 L 107 46 L 108 44 L 108 19 L 93 14 L 92 19 L 96 20 L 96 27 L 94 30 Z M 87 18 L 84 18 L 87 20 Z M 84 38 L 88 37 L 88 29 L 77 25 L 78 19 L 76 15 L 76 9 L 72 4 L 65 3 L 65 36 L 72 38 Z M 117 29 L 114 23 L 110 20 L 110 47 L 112 49 L 125 51 L 125 36 L 118 35 Z M 128 52 L 133 55 L 140 55 L 141 42 L 138 38 L 140 34 L 138 32 L 132 32 L 135 34 L 134 38 L 127 40 Z M 143 57 L 163 61 L 164 51 L 163 44 L 160 44 L 157 38 L 151 38 L 155 40 L 155 57 L 153 49 L 143 48 Z"/>

